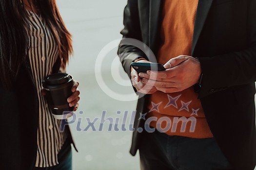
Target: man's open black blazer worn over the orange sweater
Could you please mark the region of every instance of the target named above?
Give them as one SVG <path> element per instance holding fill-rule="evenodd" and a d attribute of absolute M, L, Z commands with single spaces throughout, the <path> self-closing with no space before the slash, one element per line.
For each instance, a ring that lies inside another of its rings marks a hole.
<path fill-rule="evenodd" d="M 123 38 L 140 40 L 157 54 L 161 44 L 161 4 L 162 0 L 128 0 Z M 121 41 L 118 54 L 130 76 L 130 63 L 148 56 L 125 41 Z M 253 170 L 256 0 L 199 0 L 192 56 L 200 60 L 203 81 L 198 98 L 219 147 L 237 170 Z M 143 127 L 144 120 L 138 118 L 146 111 L 147 99 L 144 96 L 138 100 L 132 155 L 136 154 L 143 136 L 137 129 Z"/>

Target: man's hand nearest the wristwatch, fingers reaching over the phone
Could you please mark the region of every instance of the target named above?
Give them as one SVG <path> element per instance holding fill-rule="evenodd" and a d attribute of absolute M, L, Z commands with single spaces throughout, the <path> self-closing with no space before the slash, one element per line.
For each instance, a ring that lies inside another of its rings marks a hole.
<path fill-rule="evenodd" d="M 191 56 L 180 55 L 169 60 L 165 71 L 139 73 L 144 85 L 155 86 L 164 93 L 183 91 L 195 85 L 201 74 L 199 61 Z"/>

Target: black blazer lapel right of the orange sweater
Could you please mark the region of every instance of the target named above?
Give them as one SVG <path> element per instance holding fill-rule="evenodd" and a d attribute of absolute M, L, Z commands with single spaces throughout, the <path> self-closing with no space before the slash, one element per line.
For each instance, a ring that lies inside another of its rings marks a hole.
<path fill-rule="evenodd" d="M 208 16 L 210 8 L 212 6 L 213 0 L 199 0 L 197 6 L 197 15 L 195 20 L 195 28 L 194 28 L 194 36 L 193 36 L 193 43 L 192 43 L 192 55 L 194 54 L 197 41 L 199 36 L 202 32 L 203 25 L 205 20 Z"/>

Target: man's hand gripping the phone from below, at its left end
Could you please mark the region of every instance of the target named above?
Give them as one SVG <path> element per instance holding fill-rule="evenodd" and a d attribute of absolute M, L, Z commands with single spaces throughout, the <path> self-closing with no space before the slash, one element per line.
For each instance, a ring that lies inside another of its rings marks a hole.
<path fill-rule="evenodd" d="M 150 63 L 147 60 L 139 60 L 138 63 Z M 146 74 L 146 73 L 145 73 Z M 132 83 L 133 86 L 137 89 L 138 92 L 143 93 L 143 94 L 153 94 L 156 91 L 158 91 L 158 89 L 153 86 L 153 85 L 146 85 L 143 84 L 140 77 L 138 76 L 138 73 L 135 69 L 132 68 L 131 71 L 131 78 L 132 78 Z"/>

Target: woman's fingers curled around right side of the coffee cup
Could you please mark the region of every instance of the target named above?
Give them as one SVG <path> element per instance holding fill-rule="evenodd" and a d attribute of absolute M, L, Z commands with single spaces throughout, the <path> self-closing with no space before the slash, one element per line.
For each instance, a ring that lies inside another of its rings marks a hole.
<path fill-rule="evenodd" d="M 69 102 L 69 107 L 73 107 L 74 106 L 74 111 L 78 110 L 78 106 L 79 106 L 79 100 L 80 100 L 80 91 L 78 89 L 79 83 L 75 82 L 73 87 L 71 88 L 71 91 L 73 92 L 73 94 L 67 99 L 67 102 Z"/>

